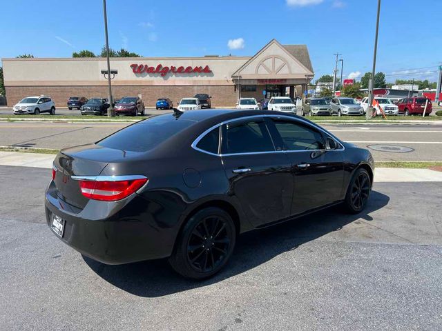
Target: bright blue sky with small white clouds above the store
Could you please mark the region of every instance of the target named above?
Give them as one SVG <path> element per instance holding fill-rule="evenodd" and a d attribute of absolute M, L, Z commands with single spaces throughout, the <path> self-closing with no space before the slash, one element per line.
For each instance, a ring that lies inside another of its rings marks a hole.
<path fill-rule="evenodd" d="M 307 44 L 315 79 L 371 71 L 376 0 L 108 0 L 111 48 L 145 57 L 253 55 L 271 39 Z M 71 57 L 104 44 L 100 0 L 3 1 L 0 58 Z M 383 0 L 376 71 L 387 81 L 430 79 L 442 64 L 441 0 Z M 229 43 L 229 40 L 231 41 Z M 229 48 L 230 46 L 230 48 Z M 233 48 L 233 49 L 232 49 Z"/>

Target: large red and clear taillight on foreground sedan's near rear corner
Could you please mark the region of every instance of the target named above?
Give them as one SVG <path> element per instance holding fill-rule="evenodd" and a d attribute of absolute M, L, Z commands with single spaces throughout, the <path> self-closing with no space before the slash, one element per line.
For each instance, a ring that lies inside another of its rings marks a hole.
<path fill-rule="evenodd" d="M 147 178 L 122 181 L 84 181 L 80 180 L 81 194 L 86 198 L 102 201 L 121 200 L 139 190 Z"/>

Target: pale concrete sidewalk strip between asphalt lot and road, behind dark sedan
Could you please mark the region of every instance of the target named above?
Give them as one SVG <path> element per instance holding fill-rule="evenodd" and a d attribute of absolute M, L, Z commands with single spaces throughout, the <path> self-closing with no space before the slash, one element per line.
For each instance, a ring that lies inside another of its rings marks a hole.
<path fill-rule="evenodd" d="M 0 152 L 0 165 L 52 168 L 55 154 Z M 375 183 L 442 181 L 442 172 L 429 169 L 376 168 Z"/>

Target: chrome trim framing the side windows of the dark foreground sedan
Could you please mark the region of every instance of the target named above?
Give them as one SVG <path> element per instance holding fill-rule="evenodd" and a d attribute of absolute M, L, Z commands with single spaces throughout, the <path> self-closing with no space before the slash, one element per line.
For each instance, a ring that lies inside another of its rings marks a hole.
<path fill-rule="evenodd" d="M 338 137 L 335 137 L 334 134 L 327 132 L 325 129 L 320 128 L 319 126 L 312 126 L 310 123 L 307 123 L 307 121 L 303 121 L 300 120 L 296 117 L 291 117 L 291 116 L 287 116 L 284 114 L 262 114 L 262 115 L 251 115 L 251 116 L 244 116 L 244 117 L 238 117 L 236 119 L 229 119 L 227 121 L 222 121 L 221 123 L 215 124 L 215 126 L 212 126 L 211 128 L 205 130 L 204 132 L 202 132 L 202 134 L 200 134 L 191 144 L 191 148 L 193 148 L 194 150 L 198 150 L 199 152 L 203 152 L 205 154 L 209 154 L 209 155 L 213 155 L 215 157 L 231 157 L 233 155 L 251 155 L 251 154 L 270 154 L 270 153 L 287 153 L 287 152 L 317 152 L 320 150 L 273 150 L 273 151 L 267 151 L 267 152 L 244 152 L 244 153 L 227 153 L 227 154 L 221 154 L 221 139 L 222 139 L 222 135 L 221 132 L 222 130 L 219 130 L 220 133 L 220 139 L 218 141 L 218 154 L 214 154 L 211 152 L 207 152 L 206 150 L 202 150 L 201 148 L 196 147 L 196 145 L 200 142 L 200 140 L 209 132 L 211 132 L 211 130 L 214 130 L 215 128 L 219 128 L 220 126 L 223 126 L 224 124 L 227 123 L 231 123 L 231 122 L 235 122 L 235 121 L 243 121 L 244 119 L 256 119 L 256 118 L 263 118 L 263 117 L 270 117 L 270 118 L 276 118 L 276 119 L 290 119 L 291 121 L 297 122 L 297 123 L 301 123 L 301 124 L 305 124 L 306 126 L 310 126 L 313 129 L 319 130 L 320 132 L 323 132 L 323 134 L 326 134 L 328 137 L 330 137 L 331 139 L 333 139 L 334 141 L 336 141 L 336 143 L 338 143 L 338 145 L 341 148 L 337 148 L 335 150 L 327 150 L 329 152 L 332 151 L 343 151 L 345 150 L 345 146 L 343 145 L 343 143 L 340 141 L 340 139 L 338 139 Z M 268 130 L 268 129 L 267 129 Z M 272 139 L 273 142 L 273 139 Z M 274 144 L 274 143 L 273 143 Z"/>

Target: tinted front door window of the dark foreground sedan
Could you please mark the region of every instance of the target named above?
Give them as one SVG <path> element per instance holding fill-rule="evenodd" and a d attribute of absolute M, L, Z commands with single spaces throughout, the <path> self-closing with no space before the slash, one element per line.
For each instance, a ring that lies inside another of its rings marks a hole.
<path fill-rule="evenodd" d="M 323 150 L 323 137 L 314 129 L 289 121 L 274 121 L 287 150 Z"/>

